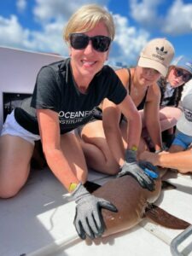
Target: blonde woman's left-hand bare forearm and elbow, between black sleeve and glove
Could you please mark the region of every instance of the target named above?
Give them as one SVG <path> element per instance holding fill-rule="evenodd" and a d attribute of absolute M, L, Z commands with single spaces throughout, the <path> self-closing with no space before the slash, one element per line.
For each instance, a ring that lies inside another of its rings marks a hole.
<path fill-rule="evenodd" d="M 60 182 L 69 189 L 71 183 L 79 183 L 61 150 L 58 113 L 38 109 L 38 125 L 48 166 Z"/>

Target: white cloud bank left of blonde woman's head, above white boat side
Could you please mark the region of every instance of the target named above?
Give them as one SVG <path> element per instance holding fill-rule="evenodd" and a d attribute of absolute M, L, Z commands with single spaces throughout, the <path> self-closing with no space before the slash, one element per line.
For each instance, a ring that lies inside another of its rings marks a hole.
<path fill-rule="evenodd" d="M 20 26 L 15 15 L 10 19 L 0 16 L 1 45 L 36 51 L 67 55 L 67 46 L 62 40 L 62 23 L 48 24 L 43 32 L 30 31 Z"/>

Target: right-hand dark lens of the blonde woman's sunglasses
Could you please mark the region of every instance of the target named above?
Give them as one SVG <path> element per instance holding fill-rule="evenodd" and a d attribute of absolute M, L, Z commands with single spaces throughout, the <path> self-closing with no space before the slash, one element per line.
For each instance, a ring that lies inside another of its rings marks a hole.
<path fill-rule="evenodd" d="M 111 39 L 104 36 L 96 36 L 91 38 L 93 48 L 100 52 L 105 52 L 111 43 Z"/>

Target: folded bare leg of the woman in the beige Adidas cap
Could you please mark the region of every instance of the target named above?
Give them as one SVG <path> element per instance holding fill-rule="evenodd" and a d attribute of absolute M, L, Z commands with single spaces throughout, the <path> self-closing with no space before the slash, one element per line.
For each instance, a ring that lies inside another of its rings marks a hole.
<path fill-rule="evenodd" d="M 79 141 L 90 168 L 111 175 L 119 172 L 119 166 L 108 148 L 101 120 L 84 125 L 80 137 Z"/>

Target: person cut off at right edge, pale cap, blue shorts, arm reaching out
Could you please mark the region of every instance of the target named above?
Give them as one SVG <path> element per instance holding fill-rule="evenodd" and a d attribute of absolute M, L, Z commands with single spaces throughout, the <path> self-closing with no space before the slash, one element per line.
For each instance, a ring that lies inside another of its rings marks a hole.
<path fill-rule="evenodd" d="M 169 152 L 154 154 L 144 152 L 141 160 L 148 160 L 154 166 L 177 169 L 178 172 L 192 172 L 192 90 L 183 97 L 183 113 L 177 121 L 176 137 Z"/>

